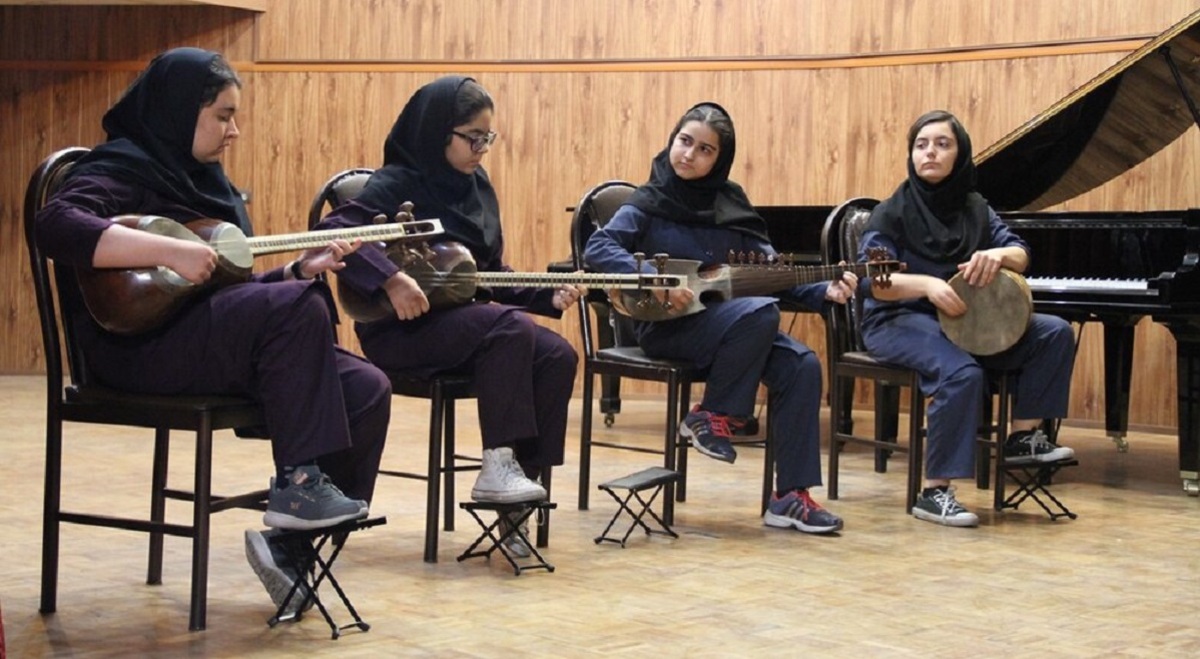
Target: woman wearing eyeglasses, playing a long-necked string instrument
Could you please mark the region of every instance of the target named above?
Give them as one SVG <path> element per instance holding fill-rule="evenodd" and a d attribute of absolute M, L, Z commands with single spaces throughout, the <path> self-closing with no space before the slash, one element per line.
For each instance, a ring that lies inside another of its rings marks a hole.
<path fill-rule="evenodd" d="M 384 143 L 383 167 L 320 228 L 367 224 L 412 202 L 414 217 L 440 220 L 445 234 L 438 240 L 466 246 L 480 271 L 511 270 L 504 263 L 496 191 L 480 164 L 496 139 L 493 119 L 492 97 L 472 78 L 450 76 L 422 86 Z M 472 498 L 546 498 L 536 477 L 563 463 L 577 357 L 562 336 L 524 312 L 560 317 L 581 290 L 496 288 L 491 301 L 431 310 L 416 281 L 380 250 L 364 246 L 346 263 L 342 284 L 385 295 L 396 312 L 355 325 L 367 358 L 391 372 L 474 376 L 484 462 Z M 528 555 L 522 545 L 509 549 Z"/>

